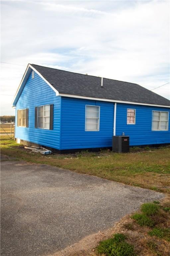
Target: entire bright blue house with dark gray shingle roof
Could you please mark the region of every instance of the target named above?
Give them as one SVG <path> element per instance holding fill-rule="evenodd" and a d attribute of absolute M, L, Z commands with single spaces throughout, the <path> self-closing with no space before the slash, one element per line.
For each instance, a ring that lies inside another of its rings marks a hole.
<path fill-rule="evenodd" d="M 58 152 L 170 143 L 170 101 L 137 84 L 28 64 L 13 100 L 18 143 Z"/>

